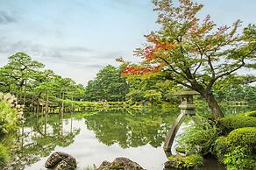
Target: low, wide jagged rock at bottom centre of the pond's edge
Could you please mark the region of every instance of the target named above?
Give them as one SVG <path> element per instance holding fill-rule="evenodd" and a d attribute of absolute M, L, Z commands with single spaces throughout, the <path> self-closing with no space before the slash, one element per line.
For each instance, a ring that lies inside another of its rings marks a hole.
<path fill-rule="evenodd" d="M 99 166 L 96 170 L 145 170 L 143 167 L 139 166 L 138 163 L 133 162 L 130 159 L 119 157 L 114 159 L 113 162 L 103 161 L 101 166 Z"/>

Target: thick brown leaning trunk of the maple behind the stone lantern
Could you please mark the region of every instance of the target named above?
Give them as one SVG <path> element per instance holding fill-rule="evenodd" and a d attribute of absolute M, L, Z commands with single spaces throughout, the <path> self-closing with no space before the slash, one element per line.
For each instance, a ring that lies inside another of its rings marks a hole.
<path fill-rule="evenodd" d="M 216 119 L 224 117 L 224 113 L 220 109 L 219 105 L 217 104 L 217 101 L 215 100 L 212 93 L 207 93 L 205 95 L 205 99 L 210 107 L 211 112 L 213 113 L 214 117 Z"/>

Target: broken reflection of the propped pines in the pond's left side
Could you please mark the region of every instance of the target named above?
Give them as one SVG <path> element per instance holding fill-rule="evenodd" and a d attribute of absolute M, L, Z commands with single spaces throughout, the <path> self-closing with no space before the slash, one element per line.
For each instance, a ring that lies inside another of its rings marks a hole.
<path fill-rule="evenodd" d="M 80 129 L 72 127 L 71 119 L 63 120 L 59 115 L 30 117 L 18 134 L 11 135 L 2 142 L 11 148 L 11 169 L 24 169 L 48 156 L 57 145 L 71 145 L 79 132 Z"/>

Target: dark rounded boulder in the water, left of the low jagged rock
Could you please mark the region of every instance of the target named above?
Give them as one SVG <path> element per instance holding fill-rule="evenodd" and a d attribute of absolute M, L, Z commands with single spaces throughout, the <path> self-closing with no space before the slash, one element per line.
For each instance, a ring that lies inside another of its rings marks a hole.
<path fill-rule="evenodd" d="M 54 170 L 75 170 L 76 160 L 73 156 L 65 152 L 53 152 L 51 156 L 46 160 L 46 168 Z"/>

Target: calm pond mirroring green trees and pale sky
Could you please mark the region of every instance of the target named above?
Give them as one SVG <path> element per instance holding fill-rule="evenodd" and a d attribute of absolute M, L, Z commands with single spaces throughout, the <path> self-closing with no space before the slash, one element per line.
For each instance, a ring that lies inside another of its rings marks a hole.
<path fill-rule="evenodd" d="M 45 169 L 47 157 L 62 151 L 75 156 L 78 169 L 126 157 L 146 169 L 161 170 L 167 161 L 162 145 L 178 114 L 174 107 L 30 116 L 17 134 L 2 142 L 13 148 L 11 169 Z M 205 161 L 201 169 L 224 169 L 215 159 Z"/>

